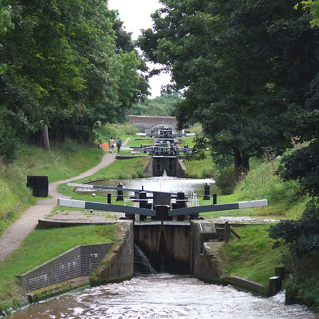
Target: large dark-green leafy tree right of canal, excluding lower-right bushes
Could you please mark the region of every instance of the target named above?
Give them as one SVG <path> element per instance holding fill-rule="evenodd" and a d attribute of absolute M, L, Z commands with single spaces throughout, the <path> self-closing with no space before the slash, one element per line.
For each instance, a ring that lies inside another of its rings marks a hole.
<path fill-rule="evenodd" d="M 139 43 L 185 89 L 180 128 L 201 122 L 213 159 L 234 159 L 238 174 L 263 148 L 285 148 L 296 135 L 287 111 L 319 70 L 318 31 L 294 1 L 161 2 Z"/>

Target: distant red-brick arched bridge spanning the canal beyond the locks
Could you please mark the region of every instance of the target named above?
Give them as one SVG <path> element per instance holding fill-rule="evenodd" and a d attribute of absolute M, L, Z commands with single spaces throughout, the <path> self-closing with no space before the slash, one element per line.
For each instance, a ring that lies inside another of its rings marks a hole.
<path fill-rule="evenodd" d="M 177 120 L 172 116 L 138 116 L 130 115 L 129 122 L 142 130 L 142 133 L 151 133 L 156 126 L 169 126 L 176 131 Z"/>

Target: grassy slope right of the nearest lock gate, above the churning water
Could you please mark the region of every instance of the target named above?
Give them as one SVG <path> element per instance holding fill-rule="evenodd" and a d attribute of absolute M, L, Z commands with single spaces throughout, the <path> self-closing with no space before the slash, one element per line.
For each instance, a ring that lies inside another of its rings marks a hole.
<path fill-rule="evenodd" d="M 238 276 L 268 286 L 274 269 L 282 266 L 282 254 L 272 249 L 268 237 L 269 225 L 233 226 L 241 236 L 232 235 L 228 244 L 220 248 L 224 276 Z"/>

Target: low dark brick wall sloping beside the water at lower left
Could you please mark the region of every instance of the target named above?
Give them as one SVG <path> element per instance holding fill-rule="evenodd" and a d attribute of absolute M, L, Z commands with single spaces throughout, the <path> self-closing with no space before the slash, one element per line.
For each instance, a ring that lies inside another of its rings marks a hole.
<path fill-rule="evenodd" d="M 78 246 L 39 267 L 16 276 L 26 292 L 76 277 L 90 275 L 101 262 L 110 244 Z"/>

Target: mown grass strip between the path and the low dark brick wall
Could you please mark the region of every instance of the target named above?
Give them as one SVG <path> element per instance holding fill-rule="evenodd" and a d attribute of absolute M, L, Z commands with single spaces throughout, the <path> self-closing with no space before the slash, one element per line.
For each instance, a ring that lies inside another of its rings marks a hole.
<path fill-rule="evenodd" d="M 78 245 L 113 242 L 115 225 L 36 230 L 0 263 L 0 309 L 17 297 L 15 275 L 33 269 Z"/>

